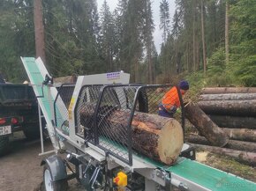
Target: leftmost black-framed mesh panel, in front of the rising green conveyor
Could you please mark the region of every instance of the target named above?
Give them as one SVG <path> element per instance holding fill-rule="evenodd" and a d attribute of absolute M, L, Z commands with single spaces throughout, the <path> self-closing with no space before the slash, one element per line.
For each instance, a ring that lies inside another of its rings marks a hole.
<path fill-rule="evenodd" d="M 65 135 L 69 135 L 68 108 L 74 88 L 75 84 L 62 84 L 57 87 L 57 95 L 54 101 L 56 128 L 62 129 Z"/>

